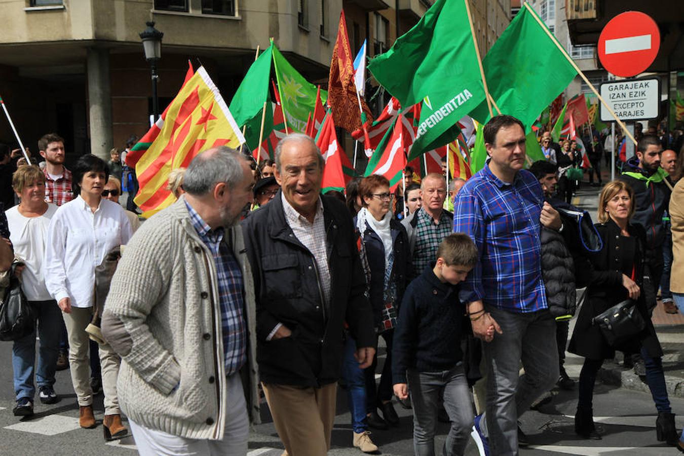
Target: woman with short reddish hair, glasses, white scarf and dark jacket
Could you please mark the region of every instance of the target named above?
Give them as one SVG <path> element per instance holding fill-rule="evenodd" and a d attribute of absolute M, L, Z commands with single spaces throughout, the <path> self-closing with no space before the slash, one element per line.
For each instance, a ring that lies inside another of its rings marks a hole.
<path fill-rule="evenodd" d="M 380 384 L 376 388 L 378 357 L 366 372 L 367 416 L 378 423 L 399 425 L 399 416 L 392 405 L 392 341 L 397 325 L 399 304 L 404 297 L 407 278 L 412 273 L 408 238 L 404 226 L 392 217 L 389 180 L 371 175 L 363 178 L 359 187 L 363 208 L 354 223 L 363 241 L 361 264 L 368 281 L 369 299 L 373 308 L 373 325 L 387 347 Z M 380 418 L 376 412 L 380 410 Z"/>

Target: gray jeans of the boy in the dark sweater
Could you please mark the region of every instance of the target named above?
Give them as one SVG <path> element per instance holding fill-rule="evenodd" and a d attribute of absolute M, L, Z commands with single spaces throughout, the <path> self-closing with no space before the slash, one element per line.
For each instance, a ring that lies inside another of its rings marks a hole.
<path fill-rule="evenodd" d="M 473 397 L 463 365 L 449 371 L 406 371 L 413 407 L 413 451 L 417 456 L 434 456 L 439 398 L 444 390 L 444 408 L 451 429 L 442 447 L 443 456 L 462 455 L 473 427 Z"/>

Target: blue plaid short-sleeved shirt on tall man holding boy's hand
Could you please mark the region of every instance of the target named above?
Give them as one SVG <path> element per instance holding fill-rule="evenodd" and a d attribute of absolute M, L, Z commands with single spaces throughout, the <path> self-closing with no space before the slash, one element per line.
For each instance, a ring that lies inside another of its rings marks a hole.
<path fill-rule="evenodd" d="M 505 183 L 487 161 L 468 180 L 456 197 L 453 231 L 469 234 L 479 258 L 461 286 L 461 301 L 482 299 L 513 312 L 548 307 L 541 270 L 542 204 L 542 187 L 526 170 Z"/>

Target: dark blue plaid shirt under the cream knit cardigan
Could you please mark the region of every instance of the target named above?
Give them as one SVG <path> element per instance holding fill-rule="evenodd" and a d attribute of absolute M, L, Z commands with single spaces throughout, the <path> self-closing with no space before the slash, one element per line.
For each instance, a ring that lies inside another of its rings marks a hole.
<path fill-rule="evenodd" d="M 223 228 L 212 230 L 187 201 L 185 206 L 192 226 L 202 242 L 209 247 L 216 265 L 226 376 L 233 375 L 247 362 L 242 271 L 233 252 L 223 242 Z"/>

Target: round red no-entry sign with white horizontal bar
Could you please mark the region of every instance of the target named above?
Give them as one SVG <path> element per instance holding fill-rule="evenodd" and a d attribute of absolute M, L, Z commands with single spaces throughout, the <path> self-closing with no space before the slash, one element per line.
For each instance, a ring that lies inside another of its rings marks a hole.
<path fill-rule="evenodd" d="M 612 18 L 599 36 L 603 67 L 620 77 L 632 77 L 648 68 L 658 55 L 660 31 L 648 14 L 628 11 Z"/>

